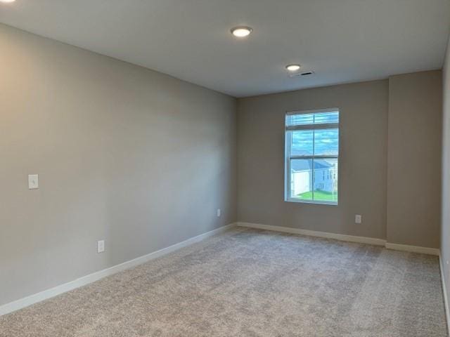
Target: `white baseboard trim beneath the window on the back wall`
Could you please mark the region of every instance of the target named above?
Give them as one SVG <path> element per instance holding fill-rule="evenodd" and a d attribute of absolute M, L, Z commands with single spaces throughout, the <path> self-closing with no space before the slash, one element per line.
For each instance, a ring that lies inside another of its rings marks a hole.
<path fill-rule="evenodd" d="M 272 230 L 275 232 L 285 232 L 291 234 L 307 235 L 309 237 L 325 237 L 327 239 L 335 239 L 347 242 L 358 242 L 361 244 L 375 244 L 377 246 L 384 246 L 385 239 L 377 239 L 374 237 L 355 237 L 353 235 L 335 234 L 329 232 L 316 232 L 315 230 L 301 230 L 300 228 L 281 227 L 271 225 L 261 225 L 259 223 L 236 223 L 240 227 L 257 228 L 259 230 Z"/>

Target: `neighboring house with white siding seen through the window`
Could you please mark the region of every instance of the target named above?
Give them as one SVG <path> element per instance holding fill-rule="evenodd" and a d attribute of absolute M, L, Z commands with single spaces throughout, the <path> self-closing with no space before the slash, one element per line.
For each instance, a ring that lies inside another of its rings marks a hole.
<path fill-rule="evenodd" d="M 293 195 L 302 194 L 311 190 L 321 190 L 323 192 L 336 192 L 338 186 L 335 184 L 335 175 L 338 168 L 334 162 L 326 159 L 314 160 L 314 175 L 312 171 L 312 160 L 293 160 L 290 164 L 290 171 L 293 175 L 291 179 L 291 191 Z"/>

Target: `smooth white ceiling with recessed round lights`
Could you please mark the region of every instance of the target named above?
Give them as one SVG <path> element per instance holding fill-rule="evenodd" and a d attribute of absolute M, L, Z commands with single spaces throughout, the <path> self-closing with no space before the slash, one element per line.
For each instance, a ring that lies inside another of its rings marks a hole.
<path fill-rule="evenodd" d="M 243 97 L 439 69 L 450 0 L 17 0 L 0 22 Z"/>

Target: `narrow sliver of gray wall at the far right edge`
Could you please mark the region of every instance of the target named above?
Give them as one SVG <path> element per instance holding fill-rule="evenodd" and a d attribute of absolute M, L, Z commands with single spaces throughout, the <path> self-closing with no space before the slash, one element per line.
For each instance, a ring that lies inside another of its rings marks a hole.
<path fill-rule="evenodd" d="M 444 122 L 442 142 L 442 222 L 441 256 L 447 295 L 450 298 L 450 40 L 447 46 L 443 72 Z"/>

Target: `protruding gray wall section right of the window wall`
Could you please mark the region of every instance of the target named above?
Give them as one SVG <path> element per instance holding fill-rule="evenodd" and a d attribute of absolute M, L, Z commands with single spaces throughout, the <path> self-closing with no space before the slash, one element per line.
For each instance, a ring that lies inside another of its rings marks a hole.
<path fill-rule="evenodd" d="M 439 248 L 442 72 L 390 77 L 387 241 Z"/>

